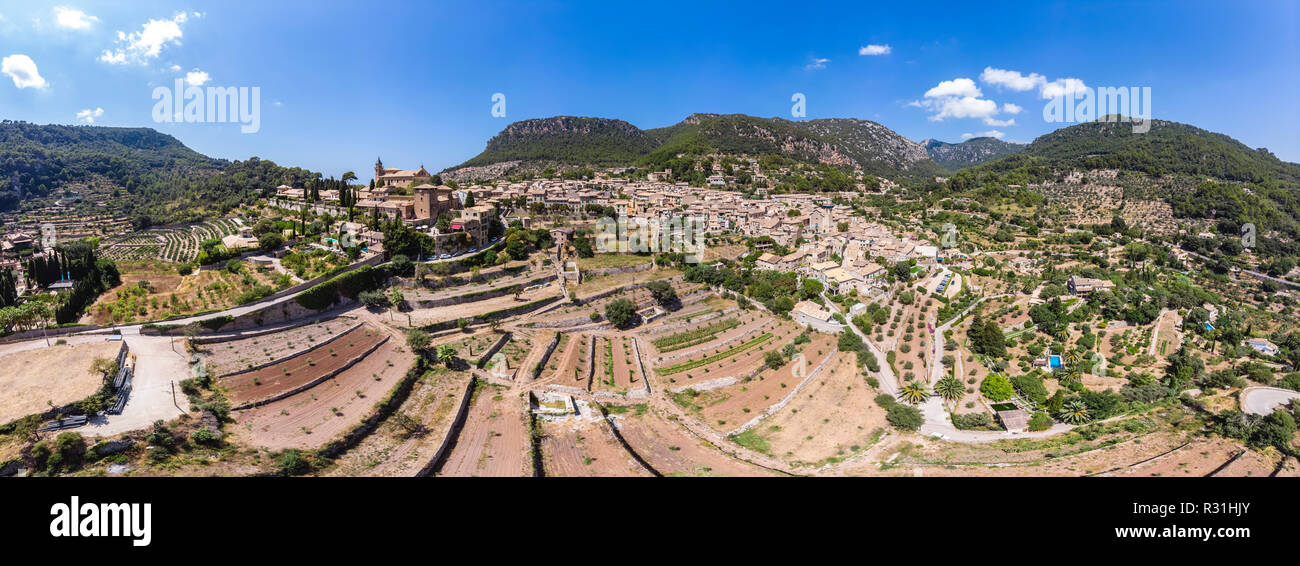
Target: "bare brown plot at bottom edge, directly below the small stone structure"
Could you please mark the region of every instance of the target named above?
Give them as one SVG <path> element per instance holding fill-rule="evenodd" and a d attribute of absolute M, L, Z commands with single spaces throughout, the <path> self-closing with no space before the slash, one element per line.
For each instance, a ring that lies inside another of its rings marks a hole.
<path fill-rule="evenodd" d="M 547 476 L 651 475 L 619 444 L 603 418 L 538 419 L 538 427 L 542 429 L 542 470 Z"/>

